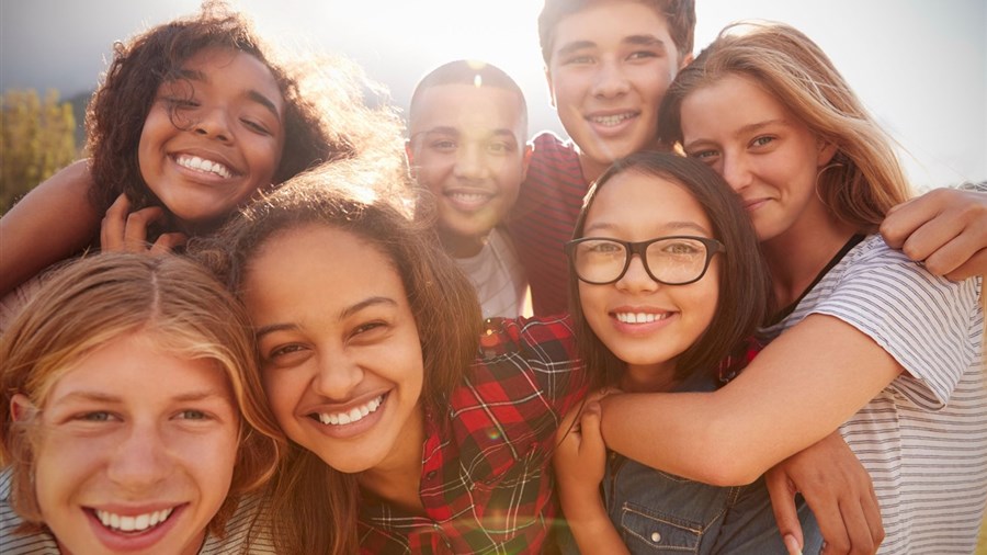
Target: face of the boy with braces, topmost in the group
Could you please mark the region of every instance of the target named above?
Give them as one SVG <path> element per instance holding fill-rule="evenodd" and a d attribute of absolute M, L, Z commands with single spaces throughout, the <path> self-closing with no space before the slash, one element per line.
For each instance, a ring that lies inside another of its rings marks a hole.
<path fill-rule="evenodd" d="M 546 77 L 581 155 L 608 166 L 655 145 L 658 107 L 685 61 L 663 15 L 633 0 L 599 1 L 558 22 Z"/>

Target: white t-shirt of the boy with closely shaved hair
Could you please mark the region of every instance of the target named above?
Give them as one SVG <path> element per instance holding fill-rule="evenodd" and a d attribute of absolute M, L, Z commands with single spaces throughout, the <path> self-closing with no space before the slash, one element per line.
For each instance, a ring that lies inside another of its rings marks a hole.
<path fill-rule="evenodd" d="M 517 318 L 524 308 L 527 279 L 510 237 L 500 228 L 475 257 L 454 258 L 473 282 L 484 318 Z"/>

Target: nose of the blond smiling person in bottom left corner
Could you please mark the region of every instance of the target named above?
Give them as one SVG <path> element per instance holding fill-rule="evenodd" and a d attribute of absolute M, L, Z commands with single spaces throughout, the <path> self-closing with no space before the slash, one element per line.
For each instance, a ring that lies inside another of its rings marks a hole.
<path fill-rule="evenodd" d="M 173 467 L 162 430 L 154 423 L 135 424 L 113 451 L 106 474 L 122 488 L 139 491 L 168 478 Z"/>

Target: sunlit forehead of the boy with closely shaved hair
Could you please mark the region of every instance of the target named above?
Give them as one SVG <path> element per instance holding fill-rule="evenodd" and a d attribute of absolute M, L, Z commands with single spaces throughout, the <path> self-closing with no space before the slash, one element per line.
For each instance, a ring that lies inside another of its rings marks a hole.
<path fill-rule="evenodd" d="M 466 135 L 509 131 L 523 139 L 525 117 L 514 91 L 465 83 L 436 84 L 421 91 L 411 106 L 409 131 L 446 128 Z"/>

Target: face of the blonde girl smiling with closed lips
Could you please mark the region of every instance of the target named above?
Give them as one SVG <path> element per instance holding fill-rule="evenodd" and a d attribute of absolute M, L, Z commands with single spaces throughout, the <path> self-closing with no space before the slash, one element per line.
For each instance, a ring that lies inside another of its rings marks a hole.
<path fill-rule="evenodd" d="M 833 147 L 773 95 L 731 75 L 690 93 L 681 112 L 685 152 L 740 194 L 760 240 L 831 225 L 815 188 Z"/>

